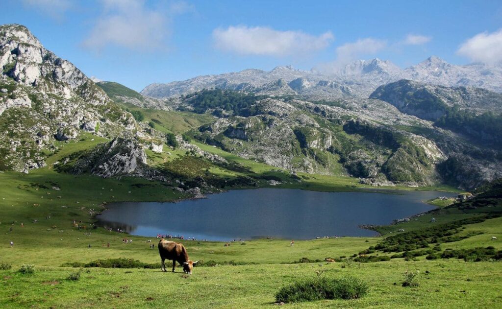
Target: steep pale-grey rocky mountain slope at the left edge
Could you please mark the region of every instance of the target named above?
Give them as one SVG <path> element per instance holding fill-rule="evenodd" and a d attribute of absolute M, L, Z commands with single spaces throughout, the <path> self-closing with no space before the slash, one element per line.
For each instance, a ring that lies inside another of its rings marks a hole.
<path fill-rule="evenodd" d="M 23 26 L 0 26 L 0 68 L 2 170 L 42 167 L 61 141 L 85 132 L 113 137 L 140 130 L 130 113 Z"/>

